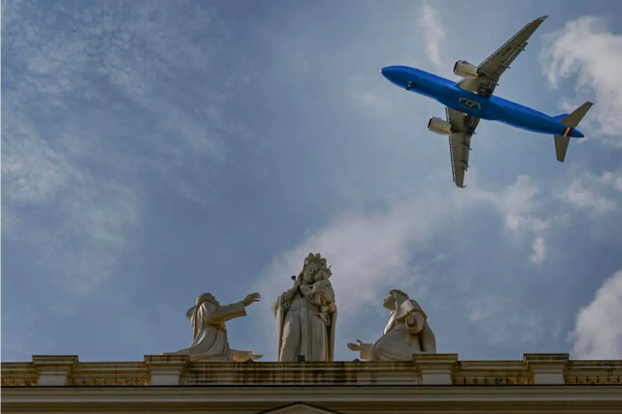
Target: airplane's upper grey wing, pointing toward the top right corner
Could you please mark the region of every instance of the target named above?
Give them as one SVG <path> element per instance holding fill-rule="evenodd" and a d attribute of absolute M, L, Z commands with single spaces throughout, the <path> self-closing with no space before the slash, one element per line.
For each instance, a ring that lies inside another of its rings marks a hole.
<path fill-rule="evenodd" d="M 549 16 L 542 16 L 523 27 L 517 34 L 508 40 L 496 52 L 490 55 L 478 66 L 477 78 L 465 78 L 457 83 L 458 88 L 476 93 L 484 98 L 490 98 L 499 78 L 509 68 L 514 59 L 525 50 L 527 39 Z"/>

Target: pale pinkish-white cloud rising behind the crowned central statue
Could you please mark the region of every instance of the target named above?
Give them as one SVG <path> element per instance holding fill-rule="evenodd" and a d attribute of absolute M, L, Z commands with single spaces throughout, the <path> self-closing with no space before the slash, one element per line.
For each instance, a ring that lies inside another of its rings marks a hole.
<path fill-rule="evenodd" d="M 424 241 L 443 211 L 448 206 L 439 208 L 430 197 L 399 203 L 386 214 L 337 219 L 282 254 L 267 272 L 269 285 L 279 292 L 289 288 L 289 276 L 300 272 L 304 257 L 321 252 L 338 275 L 332 283 L 340 292 L 339 306 L 350 312 L 364 303 L 375 303 L 386 293 L 384 288 L 404 282 L 412 254 L 409 245 Z"/>

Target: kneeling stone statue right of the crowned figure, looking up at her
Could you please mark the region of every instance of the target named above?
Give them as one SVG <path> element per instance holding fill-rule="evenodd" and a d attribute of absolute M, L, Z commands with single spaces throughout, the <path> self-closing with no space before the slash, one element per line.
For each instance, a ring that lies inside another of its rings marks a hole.
<path fill-rule="evenodd" d="M 414 354 L 435 354 L 436 339 L 427 323 L 427 315 L 417 301 L 400 290 L 389 292 L 384 307 L 391 311 L 383 336 L 374 344 L 358 339 L 348 343 L 351 351 L 360 351 L 369 361 L 412 361 Z"/>

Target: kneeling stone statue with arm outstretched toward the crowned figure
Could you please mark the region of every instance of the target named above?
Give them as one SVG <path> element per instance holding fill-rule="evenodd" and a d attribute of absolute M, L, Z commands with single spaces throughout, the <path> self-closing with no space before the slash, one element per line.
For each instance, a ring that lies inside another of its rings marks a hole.
<path fill-rule="evenodd" d="M 193 359 L 218 362 L 244 362 L 260 359 L 251 351 L 230 349 L 227 339 L 226 321 L 246 316 L 246 306 L 259 301 L 259 293 L 251 293 L 244 300 L 231 305 L 220 305 L 211 293 L 203 293 L 197 298 L 197 305 L 192 306 L 186 317 L 192 323 L 193 341 L 190 347 L 163 355 L 189 355 Z"/>

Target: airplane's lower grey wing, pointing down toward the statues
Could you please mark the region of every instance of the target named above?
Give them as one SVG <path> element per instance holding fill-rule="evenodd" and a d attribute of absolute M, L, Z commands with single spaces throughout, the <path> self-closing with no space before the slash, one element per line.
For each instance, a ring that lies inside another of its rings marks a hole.
<path fill-rule="evenodd" d="M 452 124 L 449 136 L 449 152 L 452 159 L 453 182 L 464 188 L 465 172 L 468 169 L 468 155 L 471 150 L 471 136 L 480 123 L 480 118 L 468 116 L 455 109 L 445 108 L 447 122 Z"/>

